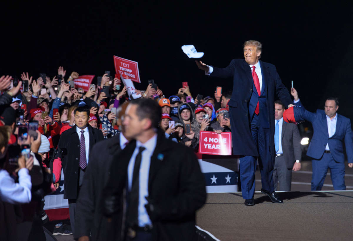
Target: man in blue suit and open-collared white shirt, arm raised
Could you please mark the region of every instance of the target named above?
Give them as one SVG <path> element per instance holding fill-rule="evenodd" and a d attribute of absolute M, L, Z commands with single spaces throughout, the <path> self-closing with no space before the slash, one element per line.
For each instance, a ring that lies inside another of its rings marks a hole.
<path fill-rule="evenodd" d="M 298 92 L 292 88 L 294 102 L 302 106 Z M 343 142 L 346 146 L 348 167 L 353 167 L 353 141 L 351 121 L 337 114 L 337 98 L 327 98 L 324 110 L 312 113 L 303 108 L 302 116 L 312 123 L 314 129 L 307 156 L 312 157 L 311 191 L 319 191 L 324 185 L 328 168 L 335 190 L 346 190 L 345 185 L 345 155 Z"/>

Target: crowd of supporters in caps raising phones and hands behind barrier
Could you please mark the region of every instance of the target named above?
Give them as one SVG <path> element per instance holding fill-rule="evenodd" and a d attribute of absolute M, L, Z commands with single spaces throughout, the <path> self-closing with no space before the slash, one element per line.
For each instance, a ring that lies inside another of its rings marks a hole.
<path fill-rule="evenodd" d="M 43 196 L 59 186 L 60 170 L 53 171 L 53 156 L 60 135 L 75 125 L 75 109 L 89 109 L 89 125 L 100 129 L 107 139 L 120 133 L 132 98 L 121 80 L 108 74 L 101 77 L 100 85 L 91 84 L 86 92 L 74 88 L 79 74 L 68 75 L 63 67 L 53 78 L 38 75 L 0 78 L 1 208 L 11 204 L 16 210 L 16 205 L 29 203 L 26 209 L 31 211 L 25 212 L 25 218 L 31 221 L 44 213 Z M 103 86 L 109 86 L 108 96 Z M 160 128 L 166 138 L 197 151 L 200 131 L 231 131 L 227 114 L 230 91 L 223 90 L 222 96 L 215 91 L 214 96 L 203 98 L 203 93 L 193 96 L 189 86 L 184 86 L 175 89 L 175 95 L 164 96 L 161 89 L 152 86 L 136 92 L 161 106 Z M 6 225 L 1 227 L 6 229 Z M 11 229 L 6 232 L 10 235 Z"/>

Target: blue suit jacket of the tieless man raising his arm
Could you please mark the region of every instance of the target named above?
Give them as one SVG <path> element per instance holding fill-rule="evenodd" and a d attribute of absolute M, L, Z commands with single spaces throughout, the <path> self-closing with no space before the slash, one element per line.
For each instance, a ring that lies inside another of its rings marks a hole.
<path fill-rule="evenodd" d="M 324 154 L 326 144 L 329 143 L 329 148 L 334 160 L 336 162 L 343 163 L 345 161 L 345 155 L 343 153 L 344 142 L 348 162 L 353 163 L 351 120 L 337 113 L 336 132 L 329 138 L 326 114 L 324 110 L 318 109 L 316 110 L 316 113 L 312 113 L 303 108 L 303 117 L 305 120 L 312 123 L 312 127 L 314 129 L 314 134 L 306 153 L 307 156 L 314 159 L 321 159 Z"/>

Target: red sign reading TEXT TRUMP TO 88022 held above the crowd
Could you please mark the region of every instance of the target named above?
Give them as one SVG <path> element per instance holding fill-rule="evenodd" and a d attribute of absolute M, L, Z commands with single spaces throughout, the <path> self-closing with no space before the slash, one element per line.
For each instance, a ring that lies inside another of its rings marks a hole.
<path fill-rule="evenodd" d="M 115 73 L 120 73 L 124 79 L 131 79 L 134 82 L 141 83 L 137 62 L 114 55 L 114 66 Z"/>

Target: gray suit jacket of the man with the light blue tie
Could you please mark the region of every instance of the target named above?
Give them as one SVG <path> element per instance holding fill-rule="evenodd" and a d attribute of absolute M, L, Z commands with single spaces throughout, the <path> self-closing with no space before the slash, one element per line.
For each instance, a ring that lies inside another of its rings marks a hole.
<path fill-rule="evenodd" d="M 301 160 L 300 134 L 297 125 L 283 121 L 282 151 L 287 168 L 293 168 L 295 160 Z"/>

